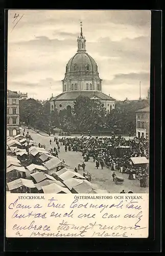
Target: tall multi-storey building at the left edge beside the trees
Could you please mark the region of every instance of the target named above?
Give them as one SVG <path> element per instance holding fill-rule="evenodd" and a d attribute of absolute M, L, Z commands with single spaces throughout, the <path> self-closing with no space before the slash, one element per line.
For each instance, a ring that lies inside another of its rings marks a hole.
<path fill-rule="evenodd" d="M 19 134 L 19 97 L 17 92 L 7 90 L 7 137 Z"/>

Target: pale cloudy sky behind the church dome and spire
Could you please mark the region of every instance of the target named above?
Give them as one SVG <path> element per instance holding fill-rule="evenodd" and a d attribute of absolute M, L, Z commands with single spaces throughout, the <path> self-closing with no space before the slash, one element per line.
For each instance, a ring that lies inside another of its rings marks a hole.
<path fill-rule="evenodd" d="M 19 14 L 19 16 L 18 16 Z M 151 12 L 147 10 L 9 10 L 7 87 L 46 100 L 62 92 L 77 52 L 80 21 L 102 92 L 116 100 L 147 97 Z"/>

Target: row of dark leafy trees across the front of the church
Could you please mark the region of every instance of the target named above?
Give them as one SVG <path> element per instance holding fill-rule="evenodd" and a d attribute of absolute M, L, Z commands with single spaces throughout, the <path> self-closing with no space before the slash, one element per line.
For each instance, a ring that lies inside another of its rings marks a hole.
<path fill-rule="evenodd" d="M 135 133 L 135 111 L 148 106 L 147 100 L 124 104 L 115 102 L 115 109 L 108 115 L 101 101 L 79 96 L 72 113 L 69 110 L 50 112 L 49 101 L 35 99 L 20 100 L 20 121 L 46 132 L 59 128 L 64 132 L 114 132 Z"/>

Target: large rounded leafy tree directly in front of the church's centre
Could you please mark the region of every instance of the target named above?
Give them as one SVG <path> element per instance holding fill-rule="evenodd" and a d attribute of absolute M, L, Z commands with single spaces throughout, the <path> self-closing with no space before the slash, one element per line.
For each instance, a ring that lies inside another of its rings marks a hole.
<path fill-rule="evenodd" d="M 99 130 L 104 124 L 106 110 L 100 100 L 79 96 L 74 102 L 76 129 L 79 132 Z"/>

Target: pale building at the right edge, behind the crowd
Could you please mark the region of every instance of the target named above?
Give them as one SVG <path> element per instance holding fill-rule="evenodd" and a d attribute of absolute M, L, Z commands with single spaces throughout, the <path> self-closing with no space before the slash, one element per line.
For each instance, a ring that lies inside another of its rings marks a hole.
<path fill-rule="evenodd" d="M 150 107 L 136 111 L 136 137 L 149 139 Z"/>

